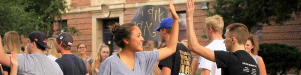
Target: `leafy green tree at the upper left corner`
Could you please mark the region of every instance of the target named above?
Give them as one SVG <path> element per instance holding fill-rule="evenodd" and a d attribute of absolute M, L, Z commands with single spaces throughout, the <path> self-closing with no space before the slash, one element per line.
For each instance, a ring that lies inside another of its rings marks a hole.
<path fill-rule="evenodd" d="M 52 35 L 54 23 L 67 9 L 65 3 L 65 0 L 0 0 L 0 34 L 14 30 L 25 36 L 32 31 Z M 64 29 L 79 34 L 73 26 Z"/>

